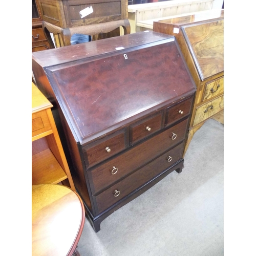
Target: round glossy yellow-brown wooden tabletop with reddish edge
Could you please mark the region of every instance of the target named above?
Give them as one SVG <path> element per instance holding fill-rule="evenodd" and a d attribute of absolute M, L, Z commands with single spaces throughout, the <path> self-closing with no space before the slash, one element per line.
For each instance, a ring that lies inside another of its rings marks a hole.
<path fill-rule="evenodd" d="M 32 255 L 79 255 L 85 220 L 76 192 L 62 185 L 32 186 Z"/>

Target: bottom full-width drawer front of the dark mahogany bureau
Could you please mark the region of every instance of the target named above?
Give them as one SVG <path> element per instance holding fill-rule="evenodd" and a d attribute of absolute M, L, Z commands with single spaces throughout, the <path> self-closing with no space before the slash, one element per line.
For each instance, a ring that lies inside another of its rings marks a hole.
<path fill-rule="evenodd" d="M 96 196 L 99 213 L 150 181 L 181 158 L 183 143 Z M 168 161 L 169 160 L 169 161 Z M 119 194 L 120 192 L 120 194 Z M 115 197 L 116 193 L 116 197 Z M 118 195 L 119 194 L 119 195 Z M 117 196 L 118 195 L 118 196 Z"/>

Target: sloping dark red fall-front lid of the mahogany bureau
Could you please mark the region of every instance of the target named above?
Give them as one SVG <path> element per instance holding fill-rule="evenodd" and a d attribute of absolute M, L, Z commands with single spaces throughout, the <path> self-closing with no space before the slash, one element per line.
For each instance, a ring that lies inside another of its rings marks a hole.
<path fill-rule="evenodd" d="M 176 41 L 89 60 L 48 72 L 81 144 L 195 88 Z"/>

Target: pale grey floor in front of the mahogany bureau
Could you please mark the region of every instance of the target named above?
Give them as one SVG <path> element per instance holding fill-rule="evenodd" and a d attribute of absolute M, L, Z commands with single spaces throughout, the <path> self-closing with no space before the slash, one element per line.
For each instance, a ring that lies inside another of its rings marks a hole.
<path fill-rule="evenodd" d="M 188 147 L 181 174 L 169 174 L 115 211 L 97 233 L 86 220 L 81 256 L 223 255 L 223 132 L 221 123 L 207 120 Z"/>

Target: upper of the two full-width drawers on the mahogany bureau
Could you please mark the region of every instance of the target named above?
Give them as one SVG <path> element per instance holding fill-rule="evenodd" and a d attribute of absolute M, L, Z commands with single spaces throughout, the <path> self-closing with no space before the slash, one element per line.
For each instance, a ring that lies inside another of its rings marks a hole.
<path fill-rule="evenodd" d="M 187 120 L 184 120 L 177 125 L 170 127 L 163 133 L 154 136 L 150 140 L 133 147 L 130 151 L 121 156 L 93 169 L 93 184 L 91 187 L 92 189 L 94 187 L 95 191 L 92 193 L 96 194 L 99 190 L 111 185 L 120 178 L 133 172 L 133 170 L 146 164 L 151 159 L 161 155 L 163 152 L 167 151 L 168 148 L 181 142 L 185 138 L 186 127 Z M 173 133 L 177 134 L 177 138 L 172 139 L 174 138 Z"/>

